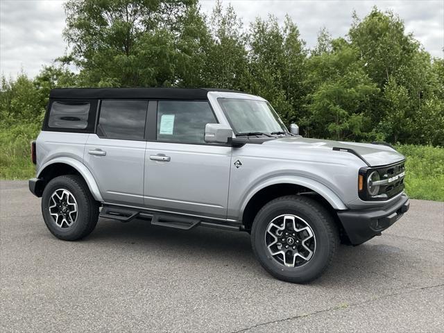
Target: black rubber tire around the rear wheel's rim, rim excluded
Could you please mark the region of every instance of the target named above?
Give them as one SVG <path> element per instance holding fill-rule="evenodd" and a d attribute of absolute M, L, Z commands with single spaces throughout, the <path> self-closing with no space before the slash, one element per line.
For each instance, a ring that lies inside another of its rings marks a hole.
<path fill-rule="evenodd" d="M 76 199 L 77 203 L 77 218 L 73 225 L 69 228 L 60 228 L 56 225 L 52 216 L 49 214 L 49 200 L 57 189 L 67 189 Z M 44 188 L 42 195 L 42 214 L 44 222 L 48 229 L 56 235 L 56 237 L 62 239 L 68 239 L 76 237 L 77 234 L 81 234 L 85 230 L 89 216 L 87 216 L 87 202 L 84 196 L 81 194 L 81 190 L 78 188 L 75 182 L 69 181 L 69 178 L 54 178 Z"/>

